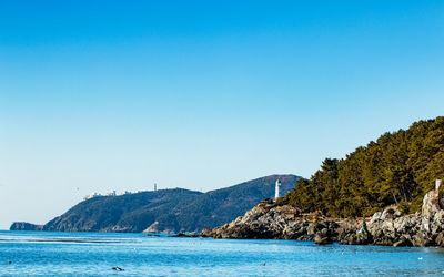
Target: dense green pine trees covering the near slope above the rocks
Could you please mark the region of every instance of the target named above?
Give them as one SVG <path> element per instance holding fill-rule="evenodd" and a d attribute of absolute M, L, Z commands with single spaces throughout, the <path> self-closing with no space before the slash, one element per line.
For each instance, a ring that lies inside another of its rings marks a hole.
<path fill-rule="evenodd" d="M 444 177 L 444 117 L 385 133 L 343 160 L 325 158 L 311 179 L 299 179 L 285 195 L 303 212 L 334 217 L 369 216 L 398 204 L 405 213 L 421 208 L 435 178 Z"/>

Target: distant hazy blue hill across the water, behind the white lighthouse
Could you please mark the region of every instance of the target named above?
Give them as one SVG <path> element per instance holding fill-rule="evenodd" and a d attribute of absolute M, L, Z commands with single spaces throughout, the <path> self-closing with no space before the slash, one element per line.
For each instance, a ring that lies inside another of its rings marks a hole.
<path fill-rule="evenodd" d="M 208 193 L 182 188 L 102 196 L 83 201 L 43 226 L 64 232 L 199 232 L 233 220 L 259 201 L 274 196 L 274 184 L 292 189 L 295 175 L 271 175 Z"/>

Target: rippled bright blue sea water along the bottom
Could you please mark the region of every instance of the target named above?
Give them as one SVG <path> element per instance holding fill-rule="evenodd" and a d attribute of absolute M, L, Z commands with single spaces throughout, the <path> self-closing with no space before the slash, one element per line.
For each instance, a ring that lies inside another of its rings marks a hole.
<path fill-rule="evenodd" d="M 9 264 L 8 261 L 11 261 Z M 124 271 L 111 269 L 118 266 Z M 444 249 L 143 234 L 0 232 L 0 276 L 443 275 Z"/>

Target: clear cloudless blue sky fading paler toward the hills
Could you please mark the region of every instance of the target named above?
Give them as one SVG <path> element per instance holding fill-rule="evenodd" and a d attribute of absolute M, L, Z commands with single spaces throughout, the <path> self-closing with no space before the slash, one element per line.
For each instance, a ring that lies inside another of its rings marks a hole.
<path fill-rule="evenodd" d="M 310 177 L 443 111 L 443 1 L 1 1 L 0 228 Z"/>

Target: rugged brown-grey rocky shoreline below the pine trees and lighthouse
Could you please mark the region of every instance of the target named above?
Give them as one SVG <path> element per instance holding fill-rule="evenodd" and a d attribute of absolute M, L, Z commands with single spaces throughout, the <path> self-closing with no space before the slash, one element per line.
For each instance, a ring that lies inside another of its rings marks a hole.
<path fill-rule="evenodd" d="M 314 240 L 316 244 L 444 247 L 443 197 L 427 193 L 422 212 L 401 215 L 389 207 L 366 219 L 329 219 L 301 215 L 289 205 L 260 203 L 223 226 L 203 229 L 202 237 Z"/>

